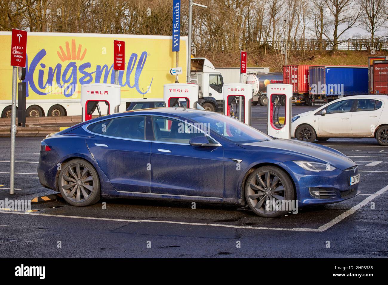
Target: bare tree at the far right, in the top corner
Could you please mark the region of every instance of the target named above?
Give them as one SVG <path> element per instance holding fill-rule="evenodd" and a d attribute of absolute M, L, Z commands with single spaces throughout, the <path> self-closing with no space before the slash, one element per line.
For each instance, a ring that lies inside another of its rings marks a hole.
<path fill-rule="evenodd" d="M 359 0 L 362 13 L 360 21 L 371 34 L 371 43 L 374 46 L 376 31 L 384 26 L 386 15 L 386 0 Z"/>

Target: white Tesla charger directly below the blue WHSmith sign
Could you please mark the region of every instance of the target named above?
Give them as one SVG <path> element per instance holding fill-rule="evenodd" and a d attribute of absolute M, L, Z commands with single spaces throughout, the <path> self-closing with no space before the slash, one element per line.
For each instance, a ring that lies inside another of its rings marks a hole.
<path fill-rule="evenodd" d="M 163 100 L 166 107 L 197 108 L 198 85 L 192 83 L 165 84 Z"/>

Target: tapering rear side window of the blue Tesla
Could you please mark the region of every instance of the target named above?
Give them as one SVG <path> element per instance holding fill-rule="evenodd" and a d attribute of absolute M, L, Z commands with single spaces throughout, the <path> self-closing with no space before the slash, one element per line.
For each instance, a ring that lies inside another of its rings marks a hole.
<path fill-rule="evenodd" d="M 125 139 L 144 139 L 144 116 L 112 118 L 91 124 L 90 132 Z"/>

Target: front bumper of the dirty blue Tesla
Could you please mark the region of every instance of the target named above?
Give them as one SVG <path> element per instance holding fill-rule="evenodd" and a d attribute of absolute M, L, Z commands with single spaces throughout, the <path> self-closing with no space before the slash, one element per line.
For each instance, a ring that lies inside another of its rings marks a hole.
<path fill-rule="evenodd" d="M 350 177 L 358 174 L 358 168 L 333 171 L 311 172 L 304 170 L 293 161 L 285 161 L 279 166 L 288 171 L 296 188 L 298 206 L 331 204 L 357 196 L 359 183 L 349 185 Z M 312 197 L 309 188 L 319 190 L 320 197 Z M 318 188 L 318 189 L 317 189 Z"/>

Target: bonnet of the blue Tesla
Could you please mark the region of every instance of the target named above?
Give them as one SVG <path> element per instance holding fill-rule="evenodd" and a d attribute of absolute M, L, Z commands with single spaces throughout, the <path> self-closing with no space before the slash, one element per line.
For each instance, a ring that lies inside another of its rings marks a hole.
<path fill-rule="evenodd" d="M 242 148 L 273 153 L 279 161 L 305 160 L 330 163 L 336 168 L 345 170 L 356 164 L 346 155 L 336 149 L 314 143 L 292 139 L 273 139 L 256 143 L 239 144 Z"/>

